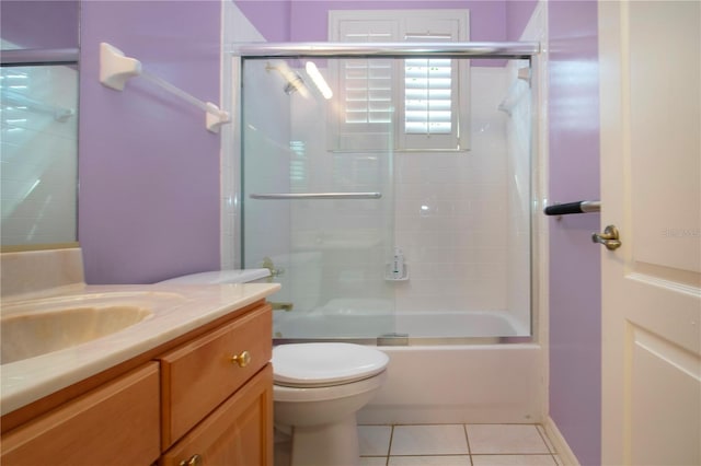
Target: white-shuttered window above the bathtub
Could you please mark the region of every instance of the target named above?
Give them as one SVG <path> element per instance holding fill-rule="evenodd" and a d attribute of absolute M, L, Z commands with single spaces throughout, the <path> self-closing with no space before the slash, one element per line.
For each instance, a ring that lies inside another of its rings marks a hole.
<path fill-rule="evenodd" d="M 332 11 L 330 40 L 464 42 L 467 10 Z M 467 60 L 337 60 L 332 150 L 467 150 Z M 363 138 L 358 138 L 363 136 Z"/>

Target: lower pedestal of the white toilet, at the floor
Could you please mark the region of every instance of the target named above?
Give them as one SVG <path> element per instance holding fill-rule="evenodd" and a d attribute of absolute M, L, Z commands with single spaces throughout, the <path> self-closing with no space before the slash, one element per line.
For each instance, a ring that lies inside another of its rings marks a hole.
<path fill-rule="evenodd" d="M 325 426 L 294 428 L 290 466 L 357 466 L 360 463 L 355 413 Z"/>

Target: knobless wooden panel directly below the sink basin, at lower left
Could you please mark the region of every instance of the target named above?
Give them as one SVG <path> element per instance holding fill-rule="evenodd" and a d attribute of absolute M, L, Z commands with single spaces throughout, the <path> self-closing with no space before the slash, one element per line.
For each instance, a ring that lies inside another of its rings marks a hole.
<path fill-rule="evenodd" d="M 159 454 L 158 364 L 130 372 L 2 436 L 2 465 L 150 465 Z"/>

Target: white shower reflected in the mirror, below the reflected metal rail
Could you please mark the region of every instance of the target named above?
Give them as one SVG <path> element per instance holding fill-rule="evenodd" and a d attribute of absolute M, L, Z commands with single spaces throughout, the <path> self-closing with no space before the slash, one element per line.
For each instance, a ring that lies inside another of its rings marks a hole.
<path fill-rule="evenodd" d="M 65 66 L 8 67 L 0 86 L 2 244 L 74 242 L 78 72 Z"/>

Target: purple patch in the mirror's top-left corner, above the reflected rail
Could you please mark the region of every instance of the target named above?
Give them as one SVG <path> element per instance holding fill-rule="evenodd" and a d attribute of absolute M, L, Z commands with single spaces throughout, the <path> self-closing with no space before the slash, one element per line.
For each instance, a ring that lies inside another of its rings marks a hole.
<path fill-rule="evenodd" d="M 2 0 L 0 33 L 21 48 L 78 47 L 78 0 Z"/>

